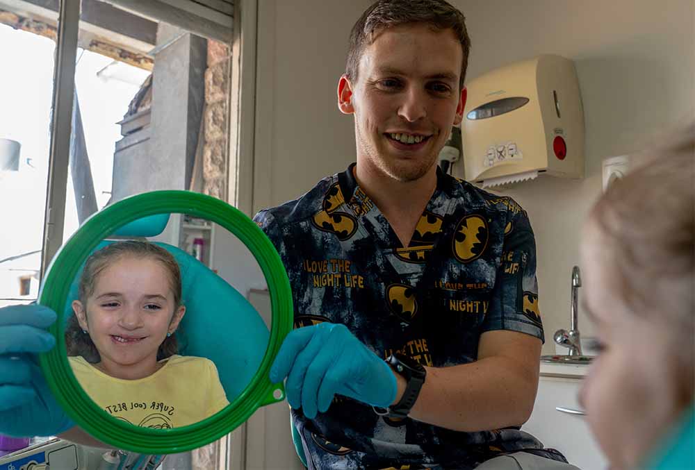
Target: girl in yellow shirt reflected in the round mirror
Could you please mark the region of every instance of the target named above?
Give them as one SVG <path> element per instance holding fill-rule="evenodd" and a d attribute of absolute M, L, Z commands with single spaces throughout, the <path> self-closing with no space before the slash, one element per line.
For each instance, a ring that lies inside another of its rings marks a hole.
<path fill-rule="evenodd" d="M 186 426 L 229 402 L 215 364 L 177 355 L 186 312 L 174 257 L 148 242 L 92 253 L 65 332 L 80 385 L 113 417 L 136 426 Z"/>

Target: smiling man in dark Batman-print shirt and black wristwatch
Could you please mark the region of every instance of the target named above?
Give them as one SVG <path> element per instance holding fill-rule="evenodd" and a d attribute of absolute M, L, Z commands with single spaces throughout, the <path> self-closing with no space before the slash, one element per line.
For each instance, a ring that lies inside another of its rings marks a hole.
<path fill-rule="evenodd" d="M 436 165 L 469 48 L 443 0 L 368 8 L 338 81 L 357 162 L 256 215 L 293 289 L 270 378 L 309 468 L 575 468 L 520 430 L 543 340 L 526 212 Z"/>

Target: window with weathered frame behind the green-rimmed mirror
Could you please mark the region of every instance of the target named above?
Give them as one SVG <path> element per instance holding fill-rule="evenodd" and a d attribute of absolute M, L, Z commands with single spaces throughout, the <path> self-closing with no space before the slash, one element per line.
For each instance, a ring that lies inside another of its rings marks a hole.
<path fill-rule="evenodd" d="M 239 59 L 231 0 L 2 5 L 0 307 L 35 300 L 63 242 L 108 203 L 163 189 L 229 200 Z M 191 460 L 226 468 L 227 444 Z"/>

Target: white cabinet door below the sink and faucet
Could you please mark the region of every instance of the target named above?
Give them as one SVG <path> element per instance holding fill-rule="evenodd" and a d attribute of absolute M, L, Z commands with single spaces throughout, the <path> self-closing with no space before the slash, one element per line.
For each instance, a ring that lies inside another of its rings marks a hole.
<path fill-rule="evenodd" d="M 556 448 L 582 470 L 607 468 L 607 460 L 580 414 L 569 414 L 556 407 L 582 410 L 577 395 L 581 380 L 543 377 L 530 419 L 523 430 L 537 437 L 545 447 Z"/>

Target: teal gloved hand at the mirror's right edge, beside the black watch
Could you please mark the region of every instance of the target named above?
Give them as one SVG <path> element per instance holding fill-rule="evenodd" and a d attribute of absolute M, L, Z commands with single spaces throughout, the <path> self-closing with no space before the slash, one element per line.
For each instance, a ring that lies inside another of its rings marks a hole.
<path fill-rule="evenodd" d="M 382 408 L 396 394 L 391 367 L 340 324 L 291 331 L 270 368 L 273 383 L 285 377 L 288 403 L 309 419 L 328 410 L 335 394 Z"/>

